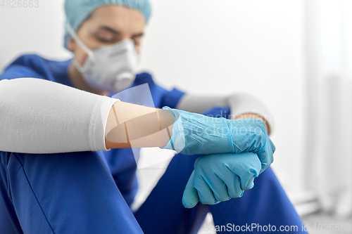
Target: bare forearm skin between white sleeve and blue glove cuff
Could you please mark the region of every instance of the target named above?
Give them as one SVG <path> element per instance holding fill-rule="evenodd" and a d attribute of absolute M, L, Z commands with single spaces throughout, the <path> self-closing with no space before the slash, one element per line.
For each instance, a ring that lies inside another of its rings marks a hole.
<path fill-rule="evenodd" d="M 116 102 L 106 124 L 106 148 L 163 147 L 174 122 L 168 110 Z"/>

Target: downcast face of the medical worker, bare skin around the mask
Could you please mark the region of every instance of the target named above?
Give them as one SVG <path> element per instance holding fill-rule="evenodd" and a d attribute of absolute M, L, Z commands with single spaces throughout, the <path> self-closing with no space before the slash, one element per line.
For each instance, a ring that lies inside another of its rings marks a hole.
<path fill-rule="evenodd" d="M 145 24 L 144 15 L 137 10 L 106 5 L 96 8 L 82 23 L 77 35 L 92 50 L 115 44 L 123 39 L 132 39 L 139 53 Z M 78 63 L 83 65 L 87 53 L 73 39 L 68 42 L 68 48 L 73 51 Z"/>

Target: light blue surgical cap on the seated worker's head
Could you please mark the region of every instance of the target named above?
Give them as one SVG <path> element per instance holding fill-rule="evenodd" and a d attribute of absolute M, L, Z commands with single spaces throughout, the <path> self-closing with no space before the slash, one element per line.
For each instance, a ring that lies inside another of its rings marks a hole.
<path fill-rule="evenodd" d="M 73 30 L 77 32 L 80 25 L 82 25 L 82 22 L 87 19 L 96 8 L 103 5 L 120 5 L 134 8 L 144 15 L 146 23 L 151 16 L 151 4 L 149 3 L 149 0 L 66 0 L 66 20 Z M 67 48 L 67 42 L 70 38 L 68 30 L 65 28 L 65 48 Z"/>

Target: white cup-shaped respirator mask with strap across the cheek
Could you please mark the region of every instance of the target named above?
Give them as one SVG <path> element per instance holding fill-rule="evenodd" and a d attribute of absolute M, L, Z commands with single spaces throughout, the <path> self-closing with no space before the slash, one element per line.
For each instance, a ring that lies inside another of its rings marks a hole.
<path fill-rule="evenodd" d="M 66 27 L 71 37 L 87 53 L 88 57 L 83 66 L 75 59 L 73 65 L 92 89 L 118 92 L 133 84 L 139 67 L 139 55 L 132 39 L 125 39 L 92 51 L 77 37 L 68 23 Z"/>

